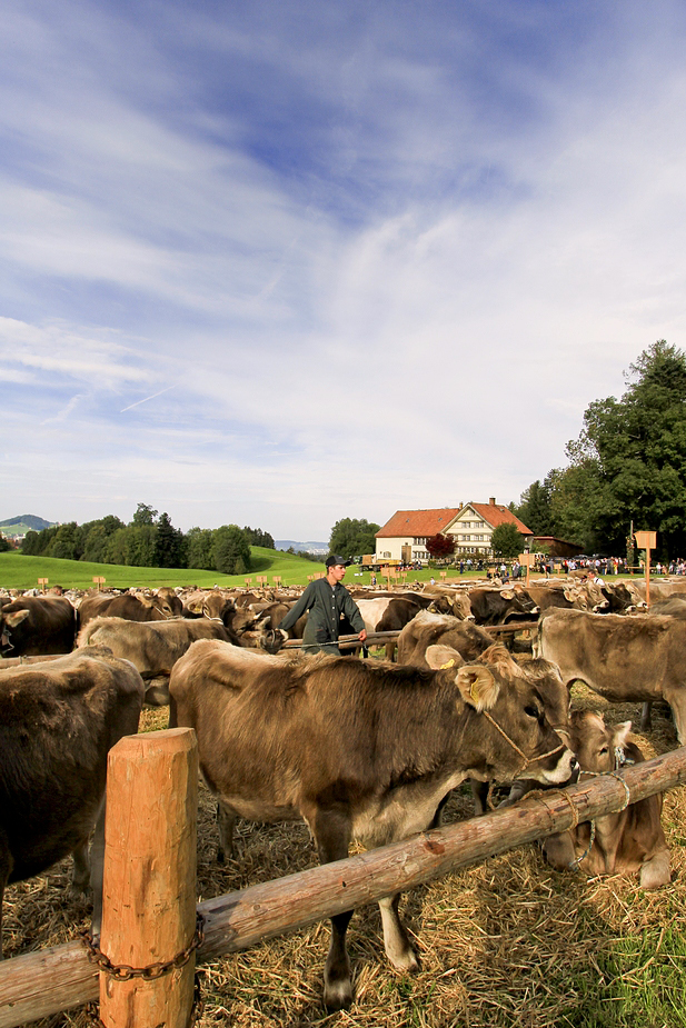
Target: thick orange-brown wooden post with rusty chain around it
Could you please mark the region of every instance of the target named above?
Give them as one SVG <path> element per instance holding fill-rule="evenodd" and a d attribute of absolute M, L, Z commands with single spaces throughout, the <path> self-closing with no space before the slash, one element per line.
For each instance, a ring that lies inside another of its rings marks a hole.
<path fill-rule="evenodd" d="M 111 964 L 162 964 L 193 938 L 197 810 L 192 729 L 126 736 L 110 750 L 100 948 Z M 151 981 L 101 971 L 106 1028 L 186 1028 L 195 957 Z"/>

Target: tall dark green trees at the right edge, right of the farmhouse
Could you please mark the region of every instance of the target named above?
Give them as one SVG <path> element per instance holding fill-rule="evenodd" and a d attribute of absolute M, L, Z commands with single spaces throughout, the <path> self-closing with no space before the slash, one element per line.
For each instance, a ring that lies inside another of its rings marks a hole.
<path fill-rule="evenodd" d="M 665 339 L 625 372 L 622 399 L 594 400 L 566 448 L 568 466 L 537 479 L 510 509 L 536 536 L 633 561 L 634 531 L 658 555 L 686 555 L 686 356 Z"/>

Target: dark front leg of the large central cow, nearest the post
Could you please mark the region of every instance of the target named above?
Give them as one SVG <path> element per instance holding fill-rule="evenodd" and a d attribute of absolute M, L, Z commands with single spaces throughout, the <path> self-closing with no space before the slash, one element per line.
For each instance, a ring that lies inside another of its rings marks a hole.
<path fill-rule="evenodd" d="M 342 810 L 318 810 L 307 817 L 317 842 L 321 864 L 345 860 L 350 846 L 350 819 Z M 352 910 L 335 914 L 331 918 L 331 944 L 324 967 L 324 1001 L 331 1010 L 340 1010 L 352 1002 L 350 960 L 346 947 L 346 932 Z"/>

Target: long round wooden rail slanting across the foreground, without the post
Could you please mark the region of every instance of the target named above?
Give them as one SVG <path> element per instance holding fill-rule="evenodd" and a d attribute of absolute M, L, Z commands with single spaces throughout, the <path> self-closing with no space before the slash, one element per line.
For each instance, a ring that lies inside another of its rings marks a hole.
<path fill-rule="evenodd" d="M 626 768 L 630 802 L 686 781 L 686 747 Z M 457 867 L 565 831 L 579 821 L 619 810 L 626 790 L 614 776 L 527 798 L 480 818 L 422 832 L 367 854 L 206 900 L 198 960 L 253 946 L 429 881 Z M 84 946 L 68 942 L 0 965 L 0 1028 L 17 1028 L 98 999 L 98 969 Z"/>

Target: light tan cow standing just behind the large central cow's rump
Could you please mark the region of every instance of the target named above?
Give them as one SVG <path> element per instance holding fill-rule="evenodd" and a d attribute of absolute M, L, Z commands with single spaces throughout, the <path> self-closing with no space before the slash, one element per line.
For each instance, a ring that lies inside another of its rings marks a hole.
<path fill-rule="evenodd" d="M 170 621 L 127 621 L 123 618 L 96 618 L 82 628 L 77 639 L 83 646 L 106 646 L 116 657 L 130 660 L 147 682 L 146 703 L 162 707 L 169 702 L 167 679 L 175 662 L 197 639 L 236 642 L 218 621 L 207 618 Z"/>

